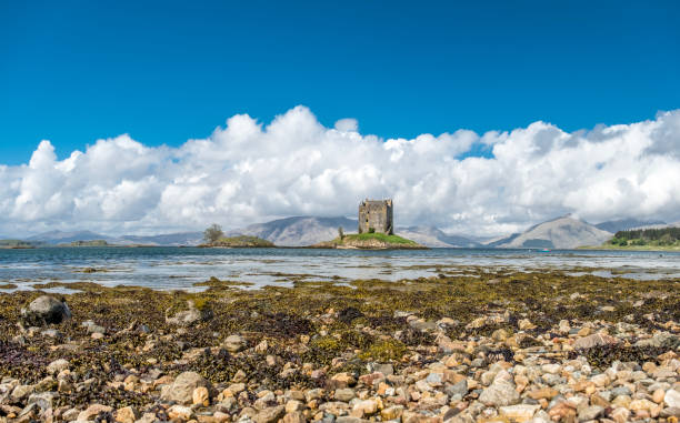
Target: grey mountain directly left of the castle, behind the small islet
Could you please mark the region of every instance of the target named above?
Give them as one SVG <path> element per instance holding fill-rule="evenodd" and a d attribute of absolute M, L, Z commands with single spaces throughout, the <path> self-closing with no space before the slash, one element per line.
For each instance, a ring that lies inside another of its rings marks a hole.
<path fill-rule="evenodd" d="M 357 221 L 347 218 L 294 216 L 256 223 L 228 232 L 228 235 L 251 235 L 281 246 L 304 246 L 338 236 L 338 228 L 357 232 Z"/>

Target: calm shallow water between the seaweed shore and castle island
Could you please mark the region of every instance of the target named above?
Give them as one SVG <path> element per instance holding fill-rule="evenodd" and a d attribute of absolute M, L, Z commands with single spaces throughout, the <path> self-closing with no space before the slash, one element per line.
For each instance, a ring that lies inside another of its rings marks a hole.
<path fill-rule="evenodd" d="M 197 290 L 196 282 L 221 280 L 290 285 L 293 280 L 397 281 L 439 273 L 540 269 L 637 279 L 680 278 L 680 253 L 560 250 L 433 249 L 357 251 L 297 249 L 71 248 L 0 250 L 0 285 L 19 290 L 47 282 L 96 282 Z M 83 273 L 86 268 L 104 272 Z M 11 290 L 0 290 L 8 292 Z M 61 290 L 63 291 L 63 290 Z"/>

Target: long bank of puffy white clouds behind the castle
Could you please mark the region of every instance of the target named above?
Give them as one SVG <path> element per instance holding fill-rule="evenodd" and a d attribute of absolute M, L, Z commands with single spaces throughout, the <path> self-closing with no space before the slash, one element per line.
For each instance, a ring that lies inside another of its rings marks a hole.
<path fill-rule="evenodd" d="M 473 154 L 473 151 L 490 153 Z M 680 110 L 567 133 L 536 122 L 383 140 L 353 119 L 333 128 L 296 107 L 268 125 L 238 114 L 208 139 L 146 147 L 98 140 L 59 160 L 42 141 L 0 164 L 0 233 L 110 234 L 224 228 L 289 215 L 354 215 L 393 198 L 399 225 L 502 234 L 566 213 L 592 222 L 680 219 Z"/>

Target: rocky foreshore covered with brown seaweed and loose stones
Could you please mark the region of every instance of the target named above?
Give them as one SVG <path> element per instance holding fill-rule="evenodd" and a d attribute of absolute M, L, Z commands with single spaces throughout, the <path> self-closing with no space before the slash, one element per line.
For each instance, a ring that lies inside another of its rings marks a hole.
<path fill-rule="evenodd" d="M 0 422 L 677 423 L 679 283 L 480 269 L 0 294 Z"/>

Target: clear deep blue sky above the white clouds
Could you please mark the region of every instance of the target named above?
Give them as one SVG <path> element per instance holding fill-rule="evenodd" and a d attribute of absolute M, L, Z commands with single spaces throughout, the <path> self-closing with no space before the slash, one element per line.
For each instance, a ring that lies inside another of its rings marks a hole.
<path fill-rule="evenodd" d="M 2 1 L 0 163 L 304 104 L 383 138 L 680 107 L 677 1 Z"/>

